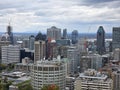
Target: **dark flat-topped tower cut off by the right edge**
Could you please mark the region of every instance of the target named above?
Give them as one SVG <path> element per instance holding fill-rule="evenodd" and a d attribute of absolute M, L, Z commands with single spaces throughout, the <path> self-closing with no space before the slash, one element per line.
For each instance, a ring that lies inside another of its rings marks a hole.
<path fill-rule="evenodd" d="M 113 27 L 112 47 L 113 50 L 115 48 L 120 48 L 120 27 Z"/>

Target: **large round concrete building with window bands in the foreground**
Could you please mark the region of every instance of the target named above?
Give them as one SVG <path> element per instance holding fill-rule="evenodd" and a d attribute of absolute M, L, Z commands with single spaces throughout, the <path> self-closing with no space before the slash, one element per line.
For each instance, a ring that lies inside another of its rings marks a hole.
<path fill-rule="evenodd" d="M 31 84 L 34 90 L 41 90 L 45 85 L 57 85 L 65 90 L 66 66 L 60 60 L 42 60 L 31 65 Z"/>

